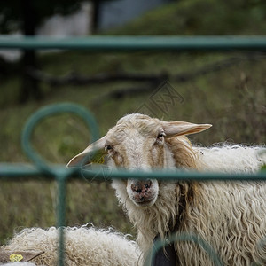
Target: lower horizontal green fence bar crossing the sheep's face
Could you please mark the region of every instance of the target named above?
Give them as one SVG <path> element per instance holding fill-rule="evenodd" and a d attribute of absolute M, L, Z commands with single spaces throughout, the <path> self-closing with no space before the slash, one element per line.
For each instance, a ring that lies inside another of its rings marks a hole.
<path fill-rule="evenodd" d="M 28 179 L 31 177 L 42 177 L 51 179 L 53 176 L 70 176 L 72 178 L 83 178 L 88 180 L 110 180 L 114 178 L 118 179 L 145 179 L 152 178 L 157 180 L 195 180 L 195 181 L 217 181 L 217 180 L 232 180 L 232 181 L 266 181 L 266 171 L 262 171 L 256 174 L 225 174 L 225 173 L 199 173 L 193 171 L 166 171 L 158 170 L 152 172 L 140 172 L 140 171 L 126 171 L 108 169 L 105 167 L 94 167 L 93 169 L 73 169 L 66 168 L 64 165 L 50 166 L 51 173 L 44 173 L 42 169 L 35 168 L 32 164 L 21 163 L 0 163 L 0 179 L 8 179 L 12 177 L 12 180 L 16 177 L 18 179 Z"/>

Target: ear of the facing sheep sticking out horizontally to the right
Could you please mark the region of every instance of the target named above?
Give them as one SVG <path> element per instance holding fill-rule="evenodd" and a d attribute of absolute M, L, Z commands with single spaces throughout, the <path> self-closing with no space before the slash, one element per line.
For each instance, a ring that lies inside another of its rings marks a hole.
<path fill-rule="evenodd" d="M 193 124 L 184 121 L 163 122 L 166 137 L 190 135 L 199 133 L 212 127 L 210 124 Z"/>

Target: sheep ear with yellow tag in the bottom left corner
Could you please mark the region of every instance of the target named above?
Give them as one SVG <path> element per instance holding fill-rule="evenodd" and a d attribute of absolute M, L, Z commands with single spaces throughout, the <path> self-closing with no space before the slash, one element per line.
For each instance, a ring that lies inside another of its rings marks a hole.
<path fill-rule="evenodd" d="M 0 263 L 7 262 L 29 262 L 44 251 L 5 251 L 0 249 Z"/>

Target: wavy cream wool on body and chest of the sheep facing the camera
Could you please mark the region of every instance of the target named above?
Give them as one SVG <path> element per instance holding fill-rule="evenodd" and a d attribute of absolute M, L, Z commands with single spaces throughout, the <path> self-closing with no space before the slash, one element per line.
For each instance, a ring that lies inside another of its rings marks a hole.
<path fill-rule="evenodd" d="M 266 162 L 262 147 L 220 145 L 194 147 L 197 166 L 203 171 L 253 173 Z M 199 166 L 200 165 L 200 166 Z M 160 182 L 159 196 L 152 207 L 137 207 L 126 191 L 125 182 L 113 180 L 116 196 L 137 228 L 137 243 L 145 256 L 159 234 L 167 238 L 173 223 L 178 233 L 200 236 L 212 246 L 224 265 L 266 265 L 266 184 L 263 182 L 199 182 L 192 202 L 186 202 L 178 216 L 181 194 L 188 182 Z M 181 189 L 183 187 L 183 189 Z M 188 200 L 189 201 L 189 200 Z M 183 204 L 183 203 L 182 203 Z M 172 227 L 172 228 L 171 228 Z M 192 242 L 176 242 L 180 266 L 214 265 L 206 252 Z"/>

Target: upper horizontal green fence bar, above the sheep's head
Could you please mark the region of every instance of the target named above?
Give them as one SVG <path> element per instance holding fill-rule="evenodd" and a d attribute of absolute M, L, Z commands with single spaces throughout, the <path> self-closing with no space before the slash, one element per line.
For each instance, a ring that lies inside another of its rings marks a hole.
<path fill-rule="evenodd" d="M 266 51 L 266 35 L 219 36 L 87 36 L 0 35 L 0 49 L 88 51 Z"/>

